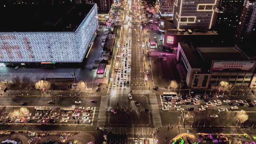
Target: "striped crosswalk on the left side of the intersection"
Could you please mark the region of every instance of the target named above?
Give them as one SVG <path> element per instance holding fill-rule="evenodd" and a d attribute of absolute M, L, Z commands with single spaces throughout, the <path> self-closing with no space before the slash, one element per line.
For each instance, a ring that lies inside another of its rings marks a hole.
<path fill-rule="evenodd" d="M 98 121 L 97 121 L 98 128 L 104 128 L 104 126 L 106 124 L 106 111 L 107 111 L 107 102 L 108 101 L 109 101 L 108 95 L 101 96 L 100 109 L 99 109 Z"/>

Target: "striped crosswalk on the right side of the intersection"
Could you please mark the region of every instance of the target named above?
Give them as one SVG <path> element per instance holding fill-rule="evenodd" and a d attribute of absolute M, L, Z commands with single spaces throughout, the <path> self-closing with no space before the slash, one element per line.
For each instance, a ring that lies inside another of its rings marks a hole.
<path fill-rule="evenodd" d="M 155 128 L 159 128 L 162 126 L 162 122 L 159 113 L 159 106 L 156 98 L 156 93 L 149 93 L 149 99 L 152 107 L 153 124 Z"/>

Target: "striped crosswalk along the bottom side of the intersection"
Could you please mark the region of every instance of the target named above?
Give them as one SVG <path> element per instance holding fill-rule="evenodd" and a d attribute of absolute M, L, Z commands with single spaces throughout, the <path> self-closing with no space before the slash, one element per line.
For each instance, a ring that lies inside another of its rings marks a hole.
<path fill-rule="evenodd" d="M 119 135 L 153 135 L 155 133 L 155 128 L 109 127 L 105 129 L 108 130 L 108 134 Z"/>

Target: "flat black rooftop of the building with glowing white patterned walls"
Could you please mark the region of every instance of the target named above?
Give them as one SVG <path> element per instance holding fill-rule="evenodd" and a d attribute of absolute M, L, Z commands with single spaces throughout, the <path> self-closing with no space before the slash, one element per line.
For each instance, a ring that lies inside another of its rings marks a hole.
<path fill-rule="evenodd" d="M 0 32 L 76 31 L 93 4 L 18 5 L 0 9 Z"/>

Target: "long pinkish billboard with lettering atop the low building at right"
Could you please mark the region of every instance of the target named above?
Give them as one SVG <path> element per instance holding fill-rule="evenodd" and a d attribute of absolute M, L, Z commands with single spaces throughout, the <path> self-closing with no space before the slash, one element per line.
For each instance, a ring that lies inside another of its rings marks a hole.
<path fill-rule="evenodd" d="M 213 61 L 212 72 L 252 72 L 255 61 Z"/>

